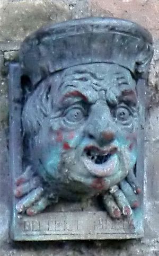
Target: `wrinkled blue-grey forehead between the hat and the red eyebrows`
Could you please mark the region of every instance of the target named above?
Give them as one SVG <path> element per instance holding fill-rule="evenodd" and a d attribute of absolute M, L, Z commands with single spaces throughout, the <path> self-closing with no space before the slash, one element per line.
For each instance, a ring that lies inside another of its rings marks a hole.
<path fill-rule="evenodd" d="M 116 64 L 94 63 L 65 69 L 61 74 L 59 91 L 64 92 L 68 86 L 83 90 L 93 87 L 97 91 L 115 86 L 122 91 L 135 90 L 136 83 L 126 68 Z"/>

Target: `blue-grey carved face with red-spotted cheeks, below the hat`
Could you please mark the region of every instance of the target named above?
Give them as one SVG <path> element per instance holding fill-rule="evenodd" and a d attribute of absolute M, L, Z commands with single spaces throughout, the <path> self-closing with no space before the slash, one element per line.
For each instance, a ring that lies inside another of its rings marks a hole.
<path fill-rule="evenodd" d="M 108 190 L 135 166 L 136 83 L 121 66 L 86 64 L 51 75 L 29 96 L 22 121 L 34 169 L 61 195 Z"/>

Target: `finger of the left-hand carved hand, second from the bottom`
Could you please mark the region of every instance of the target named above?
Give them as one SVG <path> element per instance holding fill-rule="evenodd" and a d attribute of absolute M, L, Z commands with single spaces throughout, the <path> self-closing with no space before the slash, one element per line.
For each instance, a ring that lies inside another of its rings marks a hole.
<path fill-rule="evenodd" d="M 18 213 L 24 213 L 26 209 L 28 209 L 34 202 L 38 201 L 42 196 L 43 189 L 38 187 L 37 189 L 32 190 L 28 193 L 25 197 L 23 197 L 19 202 L 16 204 L 16 210 Z"/>

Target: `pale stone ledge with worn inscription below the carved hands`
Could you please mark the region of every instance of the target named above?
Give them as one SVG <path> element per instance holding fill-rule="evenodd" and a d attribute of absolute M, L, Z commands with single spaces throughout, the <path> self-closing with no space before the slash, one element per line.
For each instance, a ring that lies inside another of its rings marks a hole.
<path fill-rule="evenodd" d="M 15 216 L 12 238 L 21 240 L 130 239 L 140 237 L 127 219 L 111 220 L 104 211 Z"/>

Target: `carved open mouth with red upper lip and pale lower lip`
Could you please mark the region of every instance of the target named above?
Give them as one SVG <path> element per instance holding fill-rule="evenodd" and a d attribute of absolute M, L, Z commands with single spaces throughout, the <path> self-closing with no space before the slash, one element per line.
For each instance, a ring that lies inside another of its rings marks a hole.
<path fill-rule="evenodd" d="M 110 176 L 116 166 L 117 147 L 101 149 L 97 146 L 86 146 L 83 152 L 83 163 L 86 169 L 95 176 Z"/>

